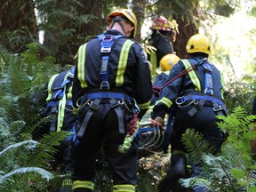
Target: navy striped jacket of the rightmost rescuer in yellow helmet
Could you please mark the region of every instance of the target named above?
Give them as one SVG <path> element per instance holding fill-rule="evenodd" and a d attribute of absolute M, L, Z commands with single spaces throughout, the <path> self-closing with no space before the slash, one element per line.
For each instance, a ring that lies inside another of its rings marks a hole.
<path fill-rule="evenodd" d="M 178 76 L 183 70 L 189 68 L 191 65 L 196 65 L 201 59 L 203 58 L 189 58 L 189 63 L 187 64 L 184 62 L 184 60 L 180 60 L 171 69 L 166 82 L 172 79 L 174 76 Z M 212 66 L 212 97 L 223 102 L 223 79 L 220 71 L 211 63 L 210 65 Z M 188 93 L 198 93 L 204 95 L 204 75 L 204 66 L 199 65 L 197 68 L 189 71 L 184 76 L 180 76 L 180 78 L 174 80 L 171 84 L 164 87 L 159 99 L 156 101 L 155 108 L 153 108 L 154 113 L 151 115 L 152 118 L 155 118 L 156 116 L 163 117 L 166 113 L 169 113 L 169 109 L 173 104 L 175 104 L 175 100 L 180 96 L 188 95 Z"/>

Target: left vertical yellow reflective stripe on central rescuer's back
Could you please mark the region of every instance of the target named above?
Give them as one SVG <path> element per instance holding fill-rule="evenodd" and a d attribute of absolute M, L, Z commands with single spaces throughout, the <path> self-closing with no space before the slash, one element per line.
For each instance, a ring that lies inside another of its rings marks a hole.
<path fill-rule="evenodd" d="M 87 87 L 87 84 L 85 82 L 85 50 L 86 45 L 83 44 L 78 49 L 78 62 L 77 62 L 77 76 L 81 83 L 81 87 Z"/>

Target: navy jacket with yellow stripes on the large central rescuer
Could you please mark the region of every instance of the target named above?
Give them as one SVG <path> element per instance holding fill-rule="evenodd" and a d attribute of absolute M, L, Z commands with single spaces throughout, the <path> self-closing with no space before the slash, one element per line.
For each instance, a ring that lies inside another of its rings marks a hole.
<path fill-rule="evenodd" d="M 105 35 L 122 35 L 108 30 Z M 152 96 L 152 83 L 147 55 L 140 44 L 122 36 L 114 40 L 108 57 L 108 92 L 123 92 L 137 101 L 140 109 L 147 109 Z M 88 92 L 101 92 L 101 45 L 94 38 L 79 47 L 73 81 L 73 105 Z"/>

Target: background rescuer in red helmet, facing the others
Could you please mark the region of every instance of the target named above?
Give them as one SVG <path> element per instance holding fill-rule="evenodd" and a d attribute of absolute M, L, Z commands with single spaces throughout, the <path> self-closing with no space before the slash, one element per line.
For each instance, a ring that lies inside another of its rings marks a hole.
<path fill-rule="evenodd" d="M 149 39 L 149 44 L 156 48 L 156 52 L 150 53 L 149 60 L 152 64 L 152 72 L 155 73 L 164 55 L 174 53 L 172 38 L 175 29 L 172 27 L 172 22 L 167 20 L 164 16 L 156 18 L 150 29 L 152 30 L 152 34 Z"/>

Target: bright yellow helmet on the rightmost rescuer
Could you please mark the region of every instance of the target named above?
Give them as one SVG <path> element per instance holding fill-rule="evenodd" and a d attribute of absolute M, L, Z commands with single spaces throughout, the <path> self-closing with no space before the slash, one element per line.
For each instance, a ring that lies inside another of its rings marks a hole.
<path fill-rule="evenodd" d="M 211 43 L 206 36 L 196 34 L 189 38 L 186 50 L 188 53 L 204 52 L 209 55 L 211 54 Z"/>

